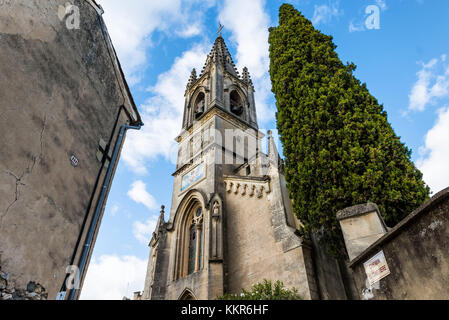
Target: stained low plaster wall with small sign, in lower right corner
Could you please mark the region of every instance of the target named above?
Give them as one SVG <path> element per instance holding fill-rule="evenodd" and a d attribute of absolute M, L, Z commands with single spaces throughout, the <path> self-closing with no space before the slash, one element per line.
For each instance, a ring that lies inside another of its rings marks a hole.
<path fill-rule="evenodd" d="M 383 250 L 391 274 L 370 288 L 363 263 Z M 449 188 L 352 262 L 360 299 L 449 299 Z"/>

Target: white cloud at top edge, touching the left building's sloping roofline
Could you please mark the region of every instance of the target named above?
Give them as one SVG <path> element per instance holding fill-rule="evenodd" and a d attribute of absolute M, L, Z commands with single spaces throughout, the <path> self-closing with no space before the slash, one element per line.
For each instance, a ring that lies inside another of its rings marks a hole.
<path fill-rule="evenodd" d="M 215 0 L 100 0 L 104 19 L 127 79 L 140 81 L 147 65 L 152 33 L 192 37 L 200 34 L 204 13 Z M 154 63 L 154 62 L 153 62 Z"/>

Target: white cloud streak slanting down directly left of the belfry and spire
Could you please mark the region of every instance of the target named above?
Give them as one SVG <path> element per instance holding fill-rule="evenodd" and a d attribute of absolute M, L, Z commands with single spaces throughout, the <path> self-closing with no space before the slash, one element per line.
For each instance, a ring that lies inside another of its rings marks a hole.
<path fill-rule="evenodd" d="M 134 172 L 147 173 L 145 162 L 158 156 L 176 163 L 174 139 L 181 132 L 187 81 L 193 68 L 198 70 L 204 65 L 211 47 L 212 44 L 198 44 L 184 52 L 149 89 L 153 97 L 139 107 L 145 125 L 140 131 L 128 133 L 122 153 Z"/>

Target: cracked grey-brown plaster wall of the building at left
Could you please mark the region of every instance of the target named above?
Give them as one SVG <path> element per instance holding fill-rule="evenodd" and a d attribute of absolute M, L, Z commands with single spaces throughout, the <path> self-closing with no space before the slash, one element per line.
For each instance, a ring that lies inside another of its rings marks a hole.
<path fill-rule="evenodd" d="M 11 283 L 39 282 L 49 299 L 105 172 L 99 141 L 110 142 L 119 107 L 130 108 L 97 11 L 73 1 L 81 24 L 69 30 L 58 18 L 65 3 L 0 4 L 0 264 Z"/>

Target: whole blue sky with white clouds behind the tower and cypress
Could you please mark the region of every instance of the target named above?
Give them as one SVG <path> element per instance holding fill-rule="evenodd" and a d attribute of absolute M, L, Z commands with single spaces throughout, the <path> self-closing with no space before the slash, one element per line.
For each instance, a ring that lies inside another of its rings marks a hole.
<path fill-rule="evenodd" d="M 145 127 L 128 134 L 81 298 L 121 299 L 143 289 L 161 204 L 169 215 L 185 86 L 192 68 L 201 71 L 219 21 L 239 71 L 251 73 L 259 126 L 276 128 L 267 39 L 284 2 L 358 66 L 357 78 L 384 104 L 432 190 L 449 185 L 447 0 L 100 0 Z M 370 5 L 378 28 L 366 24 Z"/>

